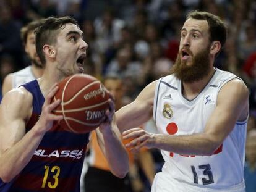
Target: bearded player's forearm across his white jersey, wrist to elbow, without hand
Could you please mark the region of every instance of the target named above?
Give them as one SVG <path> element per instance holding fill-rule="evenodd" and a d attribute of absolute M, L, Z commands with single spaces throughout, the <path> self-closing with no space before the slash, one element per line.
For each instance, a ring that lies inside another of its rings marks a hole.
<path fill-rule="evenodd" d="M 183 155 L 211 156 L 221 144 L 210 135 L 198 133 L 190 136 L 156 134 L 153 146 Z"/>

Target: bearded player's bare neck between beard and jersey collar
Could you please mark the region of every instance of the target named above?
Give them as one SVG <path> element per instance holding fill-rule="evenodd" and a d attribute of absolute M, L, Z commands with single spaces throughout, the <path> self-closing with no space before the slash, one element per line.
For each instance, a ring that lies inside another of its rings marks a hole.
<path fill-rule="evenodd" d="M 195 81 L 192 83 L 184 83 L 182 82 L 182 94 L 185 98 L 192 100 L 194 99 L 202 90 L 205 88 L 207 83 L 210 81 L 211 77 L 213 77 L 213 74 L 215 73 L 215 69 L 212 68 L 210 70 L 210 73 L 206 77 L 204 77 L 202 80 Z"/>

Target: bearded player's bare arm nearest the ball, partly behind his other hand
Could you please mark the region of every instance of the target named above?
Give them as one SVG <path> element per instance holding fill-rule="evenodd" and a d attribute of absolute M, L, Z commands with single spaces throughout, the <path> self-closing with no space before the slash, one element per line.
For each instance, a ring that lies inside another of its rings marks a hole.
<path fill-rule="evenodd" d="M 153 115 L 153 102 L 156 81 L 147 85 L 135 101 L 116 112 L 117 127 L 122 132 L 139 127 L 150 120 Z"/>

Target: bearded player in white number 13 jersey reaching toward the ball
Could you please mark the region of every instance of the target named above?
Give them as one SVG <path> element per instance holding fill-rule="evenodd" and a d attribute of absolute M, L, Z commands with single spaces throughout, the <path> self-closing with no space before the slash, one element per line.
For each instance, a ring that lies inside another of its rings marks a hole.
<path fill-rule="evenodd" d="M 161 149 L 165 164 L 154 192 L 245 191 L 249 91 L 239 77 L 213 67 L 225 40 L 219 17 L 191 12 L 171 75 L 117 111 L 124 138 L 134 139 L 127 147 Z M 160 134 L 134 128 L 152 116 Z"/>

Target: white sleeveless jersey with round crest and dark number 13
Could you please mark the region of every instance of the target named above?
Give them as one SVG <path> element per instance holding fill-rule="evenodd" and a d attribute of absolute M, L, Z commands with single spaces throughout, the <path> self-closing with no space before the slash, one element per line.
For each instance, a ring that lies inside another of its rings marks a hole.
<path fill-rule="evenodd" d="M 174 75 L 160 78 L 156 83 L 153 111 L 158 131 L 177 136 L 201 133 L 216 107 L 221 87 L 233 78 L 238 77 L 216 69 L 211 80 L 192 101 L 182 96 L 181 81 Z M 161 150 L 165 163 L 152 188 L 164 185 L 169 190 L 153 191 L 244 191 L 246 127 L 247 120 L 237 122 L 211 156 L 184 156 Z M 176 182 L 181 185 L 179 189 L 170 190 Z M 239 190 L 234 190 L 237 186 Z"/>

